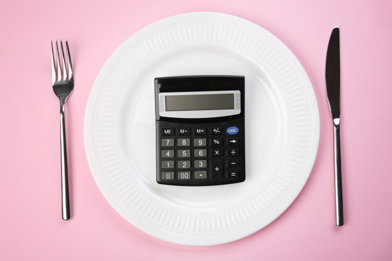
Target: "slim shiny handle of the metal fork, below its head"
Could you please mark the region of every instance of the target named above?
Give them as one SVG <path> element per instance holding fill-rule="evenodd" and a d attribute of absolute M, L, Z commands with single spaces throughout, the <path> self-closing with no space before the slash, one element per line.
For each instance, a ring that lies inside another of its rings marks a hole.
<path fill-rule="evenodd" d="M 68 186 L 67 141 L 65 137 L 64 104 L 60 104 L 60 137 L 61 137 L 61 209 L 64 220 L 71 218 L 70 190 Z"/>

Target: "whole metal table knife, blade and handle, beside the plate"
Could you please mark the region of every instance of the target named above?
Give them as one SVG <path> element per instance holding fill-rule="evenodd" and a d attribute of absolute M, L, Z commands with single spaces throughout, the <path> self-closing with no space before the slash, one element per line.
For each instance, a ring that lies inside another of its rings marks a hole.
<path fill-rule="evenodd" d="M 325 62 L 325 85 L 329 108 L 334 123 L 335 156 L 335 223 L 343 226 L 342 166 L 340 156 L 340 47 L 339 27 L 336 26 L 329 38 Z"/>

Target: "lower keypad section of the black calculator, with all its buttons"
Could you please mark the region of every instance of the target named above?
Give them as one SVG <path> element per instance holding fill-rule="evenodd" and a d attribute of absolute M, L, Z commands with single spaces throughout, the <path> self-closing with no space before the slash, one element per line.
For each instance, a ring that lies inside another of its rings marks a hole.
<path fill-rule="evenodd" d="M 243 120 L 221 124 L 200 124 L 201 126 L 196 124 L 181 126 L 181 124 L 162 121 L 159 123 L 157 124 L 157 139 L 160 144 L 157 148 L 158 183 L 210 186 L 245 180 Z M 234 135 L 227 131 L 233 126 L 237 129 Z"/>

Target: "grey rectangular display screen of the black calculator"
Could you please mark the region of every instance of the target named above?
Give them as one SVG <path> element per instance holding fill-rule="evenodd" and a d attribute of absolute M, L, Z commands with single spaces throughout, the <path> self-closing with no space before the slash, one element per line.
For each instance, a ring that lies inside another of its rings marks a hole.
<path fill-rule="evenodd" d="M 233 110 L 234 94 L 167 95 L 166 111 Z"/>

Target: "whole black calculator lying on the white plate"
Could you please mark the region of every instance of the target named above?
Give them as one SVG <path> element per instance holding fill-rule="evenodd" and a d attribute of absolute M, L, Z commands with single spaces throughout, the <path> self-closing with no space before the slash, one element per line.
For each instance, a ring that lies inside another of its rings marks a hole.
<path fill-rule="evenodd" d="M 155 78 L 156 181 L 245 181 L 245 77 Z"/>

